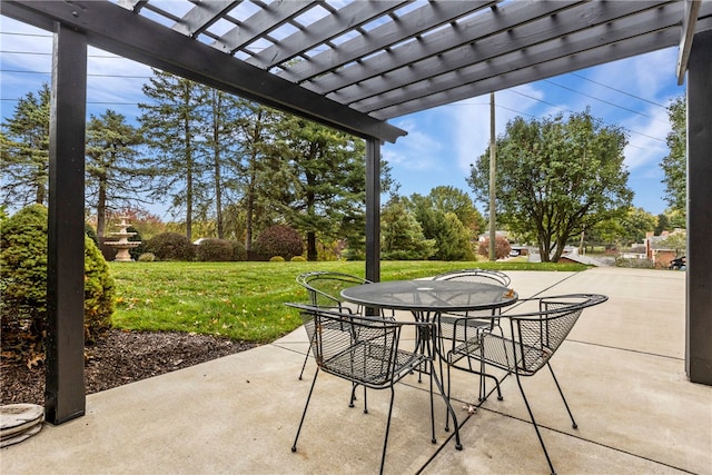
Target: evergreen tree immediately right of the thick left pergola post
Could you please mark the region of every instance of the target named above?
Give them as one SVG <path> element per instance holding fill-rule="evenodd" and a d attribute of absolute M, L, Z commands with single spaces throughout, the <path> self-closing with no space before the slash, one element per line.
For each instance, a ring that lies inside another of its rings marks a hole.
<path fill-rule="evenodd" d="M 107 215 L 140 200 L 146 178 L 139 165 L 138 146 L 141 133 L 126 118 L 107 110 L 90 116 L 87 126 L 87 189 L 88 206 L 97 210 L 97 236 L 103 243 Z"/>

